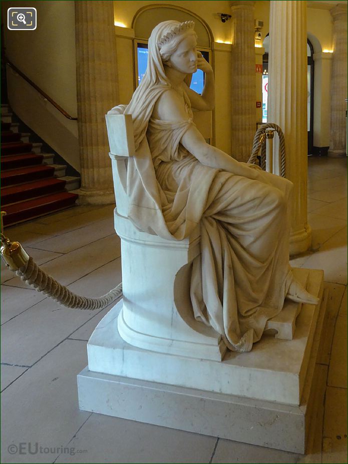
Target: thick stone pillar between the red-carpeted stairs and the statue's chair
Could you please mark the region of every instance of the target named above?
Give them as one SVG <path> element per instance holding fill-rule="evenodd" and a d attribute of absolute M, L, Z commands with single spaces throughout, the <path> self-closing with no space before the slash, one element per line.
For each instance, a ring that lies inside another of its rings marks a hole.
<path fill-rule="evenodd" d="M 113 2 L 75 2 L 80 204 L 114 203 L 105 114 L 118 104 Z"/>

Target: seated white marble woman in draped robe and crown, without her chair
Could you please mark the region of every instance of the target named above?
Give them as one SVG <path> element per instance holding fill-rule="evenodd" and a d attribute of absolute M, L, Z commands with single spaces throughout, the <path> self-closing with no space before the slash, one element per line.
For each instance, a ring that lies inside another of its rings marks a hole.
<path fill-rule="evenodd" d="M 214 107 L 213 70 L 196 45 L 191 21 L 152 31 L 146 73 L 124 111 L 141 154 L 128 160 L 128 218 L 167 240 L 200 228 L 190 283 L 194 317 L 229 349 L 250 351 L 285 298 L 318 299 L 289 265 L 291 182 L 207 144 L 193 123 L 192 109 Z M 205 73 L 202 95 L 187 85 L 197 69 Z"/>

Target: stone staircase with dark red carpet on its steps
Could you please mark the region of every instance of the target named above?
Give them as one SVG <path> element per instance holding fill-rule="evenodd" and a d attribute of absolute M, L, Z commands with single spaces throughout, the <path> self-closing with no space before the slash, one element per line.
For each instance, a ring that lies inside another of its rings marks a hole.
<path fill-rule="evenodd" d="M 8 105 L 1 106 L 1 210 L 4 226 L 27 221 L 75 205 L 78 177 L 66 176 L 66 166 L 53 164 L 53 154 L 41 153 L 41 143 L 19 133 Z"/>

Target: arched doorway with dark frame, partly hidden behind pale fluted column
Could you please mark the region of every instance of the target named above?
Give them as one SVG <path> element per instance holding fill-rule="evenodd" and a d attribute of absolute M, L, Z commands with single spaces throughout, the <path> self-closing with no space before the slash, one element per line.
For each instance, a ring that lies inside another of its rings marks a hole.
<path fill-rule="evenodd" d="M 268 50 L 269 34 L 263 40 L 265 53 L 262 57 L 262 122 L 267 122 L 267 95 L 268 95 Z M 314 60 L 313 46 L 307 39 L 307 153 L 311 155 L 313 149 L 313 114 L 314 114 Z"/>

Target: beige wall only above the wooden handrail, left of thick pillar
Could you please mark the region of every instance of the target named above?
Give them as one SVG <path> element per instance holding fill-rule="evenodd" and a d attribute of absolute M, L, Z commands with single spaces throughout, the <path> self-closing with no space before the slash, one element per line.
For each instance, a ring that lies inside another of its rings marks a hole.
<path fill-rule="evenodd" d="M 37 9 L 35 31 L 4 28 L 10 60 L 72 116 L 77 115 L 73 1 L 15 2 Z M 14 2 L 2 2 L 3 18 Z M 5 15 L 4 15 L 5 13 Z"/>

